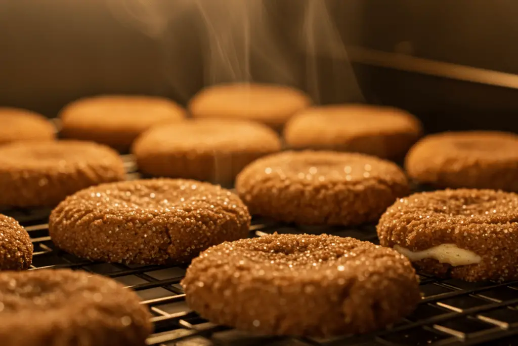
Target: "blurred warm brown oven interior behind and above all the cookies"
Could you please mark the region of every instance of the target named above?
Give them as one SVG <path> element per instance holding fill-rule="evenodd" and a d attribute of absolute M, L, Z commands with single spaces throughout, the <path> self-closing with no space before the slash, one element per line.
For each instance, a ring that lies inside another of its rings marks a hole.
<path fill-rule="evenodd" d="M 373 67 L 348 47 L 514 74 L 515 9 L 509 0 L 0 0 L 0 104 L 54 116 L 85 95 L 184 103 L 207 84 L 255 80 L 322 103 L 400 106 L 430 131 L 438 117 L 451 129 L 509 130 L 515 88 Z"/>

